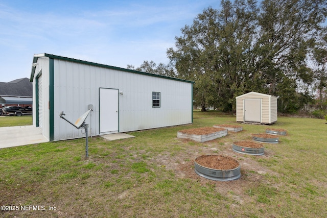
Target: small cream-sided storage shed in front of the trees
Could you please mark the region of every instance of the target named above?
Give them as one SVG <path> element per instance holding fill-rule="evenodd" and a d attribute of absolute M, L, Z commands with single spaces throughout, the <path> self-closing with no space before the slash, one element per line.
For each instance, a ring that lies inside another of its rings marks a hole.
<path fill-rule="evenodd" d="M 236 97 L 236 122 L 273 124 L 278 97 L 251 91 Z"/>

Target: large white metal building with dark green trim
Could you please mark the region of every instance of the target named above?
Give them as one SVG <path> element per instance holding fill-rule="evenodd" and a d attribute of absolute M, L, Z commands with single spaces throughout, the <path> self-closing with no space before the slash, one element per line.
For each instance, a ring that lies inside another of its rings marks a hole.
<path fill-rule="evenodd" d="M 50 54 L 34 55 L 33 126 L 50 141 L 85 137 L 60 119 L 86 119 L 89 135 L 193 123 L 193 83 Z"/>

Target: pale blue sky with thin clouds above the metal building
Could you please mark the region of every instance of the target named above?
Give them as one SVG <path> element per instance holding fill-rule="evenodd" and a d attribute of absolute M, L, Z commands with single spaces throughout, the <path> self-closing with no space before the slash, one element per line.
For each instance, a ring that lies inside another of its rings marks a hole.
<path fill-rule="evenodd" d="M 0 82 L 30 78 L 34 54 L 118 67 L 168 63 L 180 29 L 219 0 L 0 0 Z"/>

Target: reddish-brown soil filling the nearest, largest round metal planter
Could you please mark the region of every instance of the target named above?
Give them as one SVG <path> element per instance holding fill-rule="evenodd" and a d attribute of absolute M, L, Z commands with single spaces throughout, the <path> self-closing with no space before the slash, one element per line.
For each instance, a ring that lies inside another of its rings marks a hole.
<path fill-rule="evenodd" d="M 235 169 L 240 163 L 228 156 L 222 155 L 202 155 L 195 159 L 195 162 L 201 166 L 212 169 Z"/>

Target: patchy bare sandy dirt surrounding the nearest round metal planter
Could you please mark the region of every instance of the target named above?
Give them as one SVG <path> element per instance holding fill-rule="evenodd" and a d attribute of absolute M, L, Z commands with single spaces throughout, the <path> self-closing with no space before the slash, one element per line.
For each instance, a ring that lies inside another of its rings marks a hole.
<path fill-rule="evenodd" d="M 237 133 L 228 133 L 231 139 L 238 138 Z M 185 144 L 186 152 L 180 152 L 176 156 L 162 154 L 157 156 L 156 161 L 160 165 L 164 165 L 167 169 L 175 172 L 178 178 L 189 178 L 198 181 L 201 185 L 210 184 L 216 187 L 216 191 L 223 196 L 229 196 L 235 200 L 235 204 L 231 207 L 239 207 L 244 202 L 251 201 L 251 197 L 246 193 L 248 189 L 255 188 L 256 184 L 265 181 L 265 174 L 279 176 L 270 169 L 258 164 L 256 159 L 269 160 L 273 158 L 274 152 L 265 149 L 265 154 L 261 156 L 252 157 L 251 155 L 244 155 L 232 151 L 232 143 L 221 142 L 221 139 L 215 139 L 198 143 L 195 146 L 190 139 L 177 139 Z M 241 178 L 231 181 L 214 181 L 203 178 L 195 173 L 194 160 L 201 155 L 219 154 L 229 156 L 239 161 L 241 164 Z M 278 187 L 276 187 L 278 188 Z"/>

